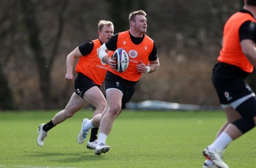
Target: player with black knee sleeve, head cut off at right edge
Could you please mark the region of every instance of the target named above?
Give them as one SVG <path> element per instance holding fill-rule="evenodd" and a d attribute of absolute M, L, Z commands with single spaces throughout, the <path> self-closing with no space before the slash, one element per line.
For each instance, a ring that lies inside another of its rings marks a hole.
<path fill-rule="evenodd" d="M 227 168 L 222 153 L 232 141 L 255 127 L 255 94 L 246 83 L 256 67 L 256 0 L 244 1 L 223 31 L 223 47 L 212 71 L 212 81 L 227 116 L 215 141 L 203 151 L 203 168 Z"/>

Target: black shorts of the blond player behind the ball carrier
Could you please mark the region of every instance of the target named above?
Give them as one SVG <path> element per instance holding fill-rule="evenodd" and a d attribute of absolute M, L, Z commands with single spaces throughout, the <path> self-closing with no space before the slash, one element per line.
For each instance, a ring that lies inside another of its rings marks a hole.
<path fill-rule="evenodd" d="M 96 85 L 90 78 L 82 73 L 78 73 L 75 80 L 75 93 L 83 98 L 84 93 L 92 87 L 100 87 Z"/>

